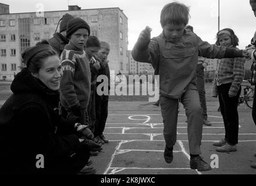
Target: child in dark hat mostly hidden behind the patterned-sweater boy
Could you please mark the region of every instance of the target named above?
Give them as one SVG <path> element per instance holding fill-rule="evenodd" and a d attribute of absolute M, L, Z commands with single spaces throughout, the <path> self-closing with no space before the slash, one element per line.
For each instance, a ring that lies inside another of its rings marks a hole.
<path fill-rule="evenodd" d="M 73 18 L 74 17 L 68 13 L 63 15 L 62 18 L 60 19 L 61 24 L 59 27 L 59 33 L 54 33 L 54 37 L 48 40 L 48 43 L 56 52 L 58 52 L 59 56 L 61 56 L 61 53 L 64 50 L 65 45 L 69 43 L 69 40 L 66 38 L 66 28 L 67 28 L 67 22 L 69 22 L 69 20 Z"/>

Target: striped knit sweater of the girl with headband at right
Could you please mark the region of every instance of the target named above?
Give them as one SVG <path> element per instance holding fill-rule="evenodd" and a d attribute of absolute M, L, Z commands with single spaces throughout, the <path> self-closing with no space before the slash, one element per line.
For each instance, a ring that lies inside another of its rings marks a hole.
<path fill-rule="evenodd" d="M 237 95 L 244 78 L 244 63 L 245 60 L 243 58 L 223 58 L 218 60 L 212 86 L 212 96 L 216 97 L 218 95 L 217 86 L 227 83 L 232 83 L 229 95 Z"/>

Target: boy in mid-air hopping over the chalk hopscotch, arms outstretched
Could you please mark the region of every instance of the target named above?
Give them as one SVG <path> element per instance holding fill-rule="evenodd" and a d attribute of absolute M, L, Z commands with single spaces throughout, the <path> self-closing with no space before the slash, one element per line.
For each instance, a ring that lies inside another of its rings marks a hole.
<path fill-rule="evenodd" d="M 236 58 L 248 54 L 246 51 L 217 47 L 202 41 L 196 34 L 184 30 L 188 22 L 189 8 L 186 5 L 168 3 L 161 11 L 162 34 L 150 39 L 151 28 L 146 27 L 138 37 L 132 56 L 138 62 L 151 63 L 159 73 L 159 100 L 166 142 L 163 156 L 166 163 L 172 163 L 173 160 L 179 102 L 182 102 L 188 119 L 190 168 L 206 171 L 211 170 L 211 166 L 200 156 L 203 119 L 195 87 L 198 56 Z"/>

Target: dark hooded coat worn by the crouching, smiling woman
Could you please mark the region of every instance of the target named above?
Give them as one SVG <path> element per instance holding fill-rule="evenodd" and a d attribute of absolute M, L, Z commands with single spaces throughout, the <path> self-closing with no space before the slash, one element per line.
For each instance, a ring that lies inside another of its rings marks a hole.
<path fill-rule="evenodd" d="M 24 68 L 12 82 L 13 94 L 0 109 L 0 173 L 68 173 L 70 152 L 80 151 L 77 117 L 58 115 L 59 93 Z M 62 134 L 62 135 L 59 135 Z M 44 157 L 44 169 L 38 160 Z"/>

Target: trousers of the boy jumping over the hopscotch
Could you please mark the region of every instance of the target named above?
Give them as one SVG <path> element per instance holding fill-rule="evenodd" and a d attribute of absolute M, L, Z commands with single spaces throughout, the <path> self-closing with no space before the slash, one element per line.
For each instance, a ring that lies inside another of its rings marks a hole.
<path fill-rule="evenodd" d="M 175 145 L 177 140 L 179 100 L 162 94 L 160 94 L 159 100 L 163 117 L 163 137 L 165 138 L 166 145 L 170 148 Z M 190 83 L 187 86 L 186 92 L 182 95 L 181 102 L 186 110 L 190 154 L 200 155 L 203 120 L 199 95 L 194 84 Z"/>

